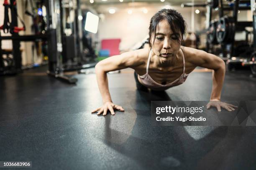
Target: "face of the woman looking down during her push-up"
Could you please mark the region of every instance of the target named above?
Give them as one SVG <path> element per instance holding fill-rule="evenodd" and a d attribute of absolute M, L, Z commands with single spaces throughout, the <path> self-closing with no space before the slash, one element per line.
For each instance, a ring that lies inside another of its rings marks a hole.
<path fill-rule="evenodd" d="M 161 20 L 156 27 L 155 42 L 151 42 L 152 50 L 161 63 L 173 62 L 181 45 L 181 35 L 174 34 L 167 20 Z M 154 35 L 151 37 L 154 41 Z"/>

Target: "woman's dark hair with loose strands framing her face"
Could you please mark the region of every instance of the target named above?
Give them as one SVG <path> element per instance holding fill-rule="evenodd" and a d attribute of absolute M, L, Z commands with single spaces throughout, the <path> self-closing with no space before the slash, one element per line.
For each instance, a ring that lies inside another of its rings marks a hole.
<path fill-rule="evenodd" d="M 163 9 L 158 11 L 150 20 L 149 25 L 149 47 L 152 48 L 151 38 L 154 35 L 154 41 L 156 39 L 156 27 L 161 20 L 167 20 L 170 28 L 174 33 L 178 33 L 181 37 L 182 45 L 184 45 L 184 36 L 186 33 L 186 22 L 184 21 L 182 15 L 178 13 L 176 10 L 172 9 Z M 153 41 L 153 43 L 154 43 Z"/>

